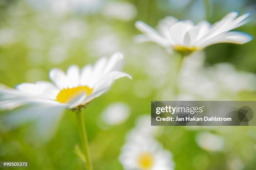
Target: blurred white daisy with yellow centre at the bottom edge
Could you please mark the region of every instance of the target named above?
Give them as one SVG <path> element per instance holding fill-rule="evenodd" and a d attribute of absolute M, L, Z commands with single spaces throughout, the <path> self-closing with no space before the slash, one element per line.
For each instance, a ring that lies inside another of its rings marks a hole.
<path fill-rule="evenodd" d="M 150 137 L 129 138 L 122 148 L 119 160 L 125 170 L 174 169 L 172 154 Z"/>

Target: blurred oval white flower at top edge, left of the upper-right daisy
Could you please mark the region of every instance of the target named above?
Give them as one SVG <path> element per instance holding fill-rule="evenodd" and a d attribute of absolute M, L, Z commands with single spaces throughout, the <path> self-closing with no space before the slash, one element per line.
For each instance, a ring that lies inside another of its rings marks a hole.
<path fill-rule="evenodd" d="M 128 2 L 109 1 L 104 7 L 103 14 L 116 20 L 129 21 L 136 16 L 136 7 Z"/>

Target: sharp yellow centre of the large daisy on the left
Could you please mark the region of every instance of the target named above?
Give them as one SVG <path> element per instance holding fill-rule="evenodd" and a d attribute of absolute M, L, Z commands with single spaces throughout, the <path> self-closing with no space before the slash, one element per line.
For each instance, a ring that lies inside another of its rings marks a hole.
<path fill-rule="evenodd" d="M 56 100 L 61 103 L 68 103 L 77 97 L 82 92 L 86 93 L 87 96 L 92 94 L 93 89 L 88 86 L 77 86 L 72 88 L 63 88 L 56 96 Z"/>

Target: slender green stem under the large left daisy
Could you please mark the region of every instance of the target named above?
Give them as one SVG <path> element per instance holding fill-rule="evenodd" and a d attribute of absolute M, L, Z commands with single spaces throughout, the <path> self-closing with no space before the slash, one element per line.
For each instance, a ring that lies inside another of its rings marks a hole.
<path fill-rule="evenodd" d="M 91 160 L 90 150 L 89 150 L 89 143 L 88 143 L 87 133 L 84 125 L 84 115 L 80 110 L 76 111 L 76 115 L 77 115 L 78 129 L 79 129 L 79 133 L 82 140 L 82 148 L 84 151 L 86 169 L 93 170 L 92 160 Z"/>

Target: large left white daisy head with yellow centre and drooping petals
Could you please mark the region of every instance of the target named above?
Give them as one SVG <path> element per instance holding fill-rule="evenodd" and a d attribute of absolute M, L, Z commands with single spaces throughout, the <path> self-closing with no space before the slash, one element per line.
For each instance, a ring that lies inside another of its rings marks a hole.
<path fill-rule="evenodd" d="M 54 131 L 52 127 L 64 109 L 79 110 L 109 90 L 116 79 L 131 78 L 120 71 L 122 67 L 123 55 L 115 53 L 109 59 L 103 57 L 81 70 L 77 65 L 71 65 L 66 73 L 54 68 L 49 72 L 52 82 L 21 83 L 15 89 L 0 85 L 0 109 L 30 106 L 6 115 L 2 121 L 7 127 L 13 128 L 39 120 L 38 131 L 45 137 L 49 136 L 47 130 L 51 131 L 49 133 Z"/>

